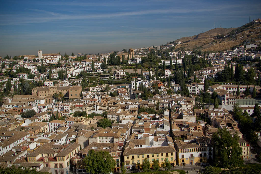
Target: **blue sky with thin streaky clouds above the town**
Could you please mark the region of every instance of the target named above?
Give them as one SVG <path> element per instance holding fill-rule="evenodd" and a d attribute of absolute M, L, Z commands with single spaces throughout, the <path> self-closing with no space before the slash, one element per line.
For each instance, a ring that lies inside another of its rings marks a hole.
<path fill-rule="evenodd" d="M 3 1 L 0 56 L 162 45 L 260 18 L 261 1 Z"/>

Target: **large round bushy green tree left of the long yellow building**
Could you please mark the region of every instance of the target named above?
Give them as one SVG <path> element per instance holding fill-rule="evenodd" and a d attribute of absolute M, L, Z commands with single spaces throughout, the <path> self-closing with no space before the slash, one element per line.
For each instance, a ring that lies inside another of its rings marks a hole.
<path fill-rule="evenodd" d="M 109 174 L 115 168 L 115 160 L 107 151 L 90 150 L 83 159 L 85 169 L 90 174 Z"/>

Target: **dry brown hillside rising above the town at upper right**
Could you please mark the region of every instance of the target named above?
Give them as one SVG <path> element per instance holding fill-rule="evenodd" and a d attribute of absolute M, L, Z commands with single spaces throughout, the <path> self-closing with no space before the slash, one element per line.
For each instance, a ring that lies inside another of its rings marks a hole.
<path fill-rule="evenodd" d="M 217 35 L 220 35 L 217 37 Z M 248 23 L 238 28 L 215 28 L 204 33 L 175 40 L 182 43 L 176 49 L 192 50 L 201 47 L 202 51 L 222 51 L 244 41 L 261 40 L 261 24 Z"/>

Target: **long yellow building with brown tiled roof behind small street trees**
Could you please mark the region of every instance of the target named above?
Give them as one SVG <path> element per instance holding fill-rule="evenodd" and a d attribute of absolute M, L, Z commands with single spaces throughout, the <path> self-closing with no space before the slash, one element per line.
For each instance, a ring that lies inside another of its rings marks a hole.
<path fill-rule="evenodd" d="M 149 147 L 149 148 L 131 148 L 127 147 L 123 152 L 124 166 L 128 170 L 139 169 L 144 159 L 150 161 L 152 167 L 153 161 L 157 160 L 159 166 L 163 167 L 164 159 L 167 158 L 171 166 L 176 165 L 176 150 L 173 146 Z"/>

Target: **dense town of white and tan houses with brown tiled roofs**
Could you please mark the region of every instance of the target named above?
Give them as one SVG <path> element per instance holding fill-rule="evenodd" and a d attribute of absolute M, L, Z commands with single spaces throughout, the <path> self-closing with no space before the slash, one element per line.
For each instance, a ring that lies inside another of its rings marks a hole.
<path fill-rule="evenodd" d="M 171 46 L 171 45 L 169 45 Z M 166 46 L 167 47 L 167 46 Z M 0 108 L 0 165 L 1 166 L 30 166 L 38 171 L 49 171 L 55 174 L 65 174 L 68 171 L 84 173 L 85 166 L 83 158 L 91 149 L 104 150 L 113 156 L 116 165 L 115 171 L 120 171 L 121 164 L 128 169 L 140 169 L 143 160 L 149 159 L 151 165 L 154 160 L 163 165 L 164 159 L 168 159 L 171 166 L 186 166 L 207 163 L 213 159 L 215 150 L 211 136 L 217 132 L 219 127 L 226 127 L 231 136 L 237 134 L 240 139 L 239 146 L 242 148 L 242 159 L 250 158 L 249 144 L 243 139 L 238 128 L 238 123 L 233 119 L 231 113 L 234 103 L 249 114 L 253 113 L 255 101 L 249 98 L 249 102 L 242 102 L 242 98 L 232 95 L 237 90 L 237 85 L 215 84 L 209 87 L 208 92 L 214 91 L 220 98 L 219 108 L 209 107 L 207 109 L 194 109 L 197 105 L 195 96 L 204 91 L 204 80 L 216 77 L 216 73 L 222 71 L 226 60 L 233 56 L 242 59 L 253 59 L 260 53 L 254 53 L 256 45 L 240 46 L 234 50 L 227 50 L 219 54 L 207 55 L 213 68 L 203 68 L 195 71 L 194 77 L 198 80 L 187 85 L 189 97 L 176 93 L 181 90 L 179 84 L 171 82 L 171 85 L 162 83 L 160 80 L 152 79 L 153 71 L 142 71 L 141 69 L 115 69 L 112 75 L 114 79 L 126 77 L 126 73 L 136 73 L 145 78 L 134 77 L 130 84 L 97 85 L 82 89 L 80 86 L 82 78 L 75 78 L 82 71 L 92 72 L 92 62 L 96 72 L 109 71 L 101 69 L 104 57 L 88 56 L 88 59 L 80 62 L 72 61 L 77 56 L 69 56 L 67 62 L 61 61 L 60 68 L 53 68 L 51 78 L 58 77 L 58 71 L 67 71 L 66 80 L 47 80 L 44 86 L 32 89 L 32 95 L 14 95 L 3 97 L 3 105 Z M 140 63 L 141 56 L 146 55 L 150 49 L 129 49 L 128 53 L 120 52 L 119 56 L 127 58 L 128 63 Z M 163 48 L 164 49 L 164 48 Z M 250 51 L 248 51 L 250 50 Z M 170 52 L 173 57 L 173 65 L 178 52 Z M 192 54 L 191 51 L 181 53 Z M 47 73 L 41 74 L 37 66 L 41 66 L 42 59 L 45 65 L 57 63 L 61 60 L 60 54 L 42 54 L 38 56 L 24 56 L 26 61 L 16 61 L 16 66 L 31 69 L 35 74 L 33 79 L 28 74 L 19 73 L 11 80 L 12 90 L 18 85 L 20 78 L 38 81 L 49 78 Z M 15 60 L 1 60 L 5 65 L 2 71 L 9 70 L 9 64 Z M 166 66 L 169 60 L 163 60 Z M 247 68 L 246 68 L 247 70 Z M 16 71 L 14 68 L 12 71 Z M 48 69 L 49 71 L 49 69 Z M 102 73 L 101 73 L 102 74 Z M 106 74 L 106 73 L 104 73 Z M 165 69 L 163 77 L 172 74 L 172 70 Z M 95 75 L 95 74 L 93 74 Z M 110 76 L 100 76 L 100 79 L 108 79 Z M 9 78 L 1 78 L 3 86 Z M 150 80 L 151 79 L 151 80 Z M 153 91 L 157 86 L 159 94 L 143 100 L 141 96 L 144 91 L 138 90 L 140 86 Z M 240 93 L 244 93 L 246 85 L 239 85 Z M 260 93 L 260 86 L 248 85 L 250 93 L 256 89 Z M 169 92 L 169 90 L 175 92 Z M 108 93 L 116 93 L 117 96 L 109 96 Z M 62 93 L 66 100 L 59 100 L 55 93 Z M 247 96 L 245 96 L 247 97 Z M 161 113 L 139 112 L 140 108 L 145 111 L 149 109 L 161 110 Z M 23 118 L 22 113 L 35 111 L 36 114 L 29 118 Z M 85 113 L 83 116 L 74 117 L 75 113 Z M 52 121 L 50 118 L 56 117 Z M 99 120 L 109 119 L 110 127 L 98 127 Z M 50 121 L 49 121 L 50 120 Z M 260 132 L 256 132 L 260 136 Z M 259 138 L 259 141 L 261 138 Z M 261 142 L 261 141 L 260 141 Z M 261 144 L 261 143 L 260 143 Z M 122 158 L 121 158 L 122 157 Z"/>

